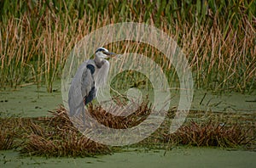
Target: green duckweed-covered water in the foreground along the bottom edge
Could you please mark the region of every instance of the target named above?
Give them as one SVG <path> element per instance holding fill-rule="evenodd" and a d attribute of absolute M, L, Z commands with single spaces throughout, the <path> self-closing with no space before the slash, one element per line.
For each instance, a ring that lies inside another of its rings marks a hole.
<path fill-rule="evenodd" d="M 173 148 L 171 151 L 128 149 L 96 158 L 21 157 L 0 151 L 1 167 L 255 167 L 256 153 L 220 148 Z"/>

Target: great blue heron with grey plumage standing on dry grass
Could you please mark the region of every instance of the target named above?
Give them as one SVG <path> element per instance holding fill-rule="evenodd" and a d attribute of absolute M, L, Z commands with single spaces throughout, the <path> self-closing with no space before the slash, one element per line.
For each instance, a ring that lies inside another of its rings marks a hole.
<path fill-rule="evenodd" d="M 115 53 L 110 53 L 106 48 L 97 48 L 95 58 L 79 66 L 68 92 L 69 115 L 78 115 L 84 109 L 84 104 L 96 98 L 107 81 L 109 62 L 106 59 L 113 55 Z"/>

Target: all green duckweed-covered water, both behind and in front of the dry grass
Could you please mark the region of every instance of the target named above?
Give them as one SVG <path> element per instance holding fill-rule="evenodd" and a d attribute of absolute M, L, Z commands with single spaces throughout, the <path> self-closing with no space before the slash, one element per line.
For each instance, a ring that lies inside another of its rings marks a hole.
<path fill-rule="evenodd" d="M 0 91 L 0 117 L 38 117 L 50 115 L 49 110 L 62 103 L 61 82 L 55 82 L 54 92 L 46 88 L 27 85 Z M 178 102 L 178 94 L 172 94 L 172 105 Z M 195 90 L 192 110 L 256 113 L 256 92 L 214 94 Z M 45 158 L 23 157 L 15 150 L 0 151 L 0 167 L 255 167 L 256 153 L 222 148 L 177 147 L 170 151 L 127 148 L 122 152 L 96 158 Z"/>

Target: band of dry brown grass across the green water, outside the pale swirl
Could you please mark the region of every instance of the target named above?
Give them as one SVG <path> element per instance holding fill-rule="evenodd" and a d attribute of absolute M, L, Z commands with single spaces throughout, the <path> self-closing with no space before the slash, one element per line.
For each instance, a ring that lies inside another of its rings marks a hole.
<path fill-rule="evenodd" d="M 145 102 L 135 113 L 126 117 L 110 115 L 97 105 L 90 104 L 88 109 L 90 115 L 103 125 L 125 129 L 145 120 L 150 113 L 149 107 L 148 102 Z M 73 127 L 64 107 L 51 113 L 53 116 L 46 118 L 1 119 L 1 149 L 20 148 L 21 154 L 82 157 L 114 152 L 113 148 L 84 137 Z M 254 115 L 193 111 L 183 126 L 172 134 L 169 133 L 172 115 L 168 116 L 156 132 L 131 147 L 170 148 L 192 145 L 255 150 Z"/>

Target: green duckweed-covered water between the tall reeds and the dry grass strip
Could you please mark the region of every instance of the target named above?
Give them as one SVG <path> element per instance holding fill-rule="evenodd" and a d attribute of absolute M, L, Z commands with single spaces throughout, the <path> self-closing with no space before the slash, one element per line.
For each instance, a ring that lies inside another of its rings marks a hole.
<path fill-rule="evenodd" d="M 150 92 L 149 92 L 150 94 Z M 170 106 L 177 106 L 179 93 L 171 91 Z M 54 83 L 53 92 L 46 92 L 44 86 L 27 85 L 16 89 L 0 90 L 0 116 L 17 115 L 20 117 L 37 117 L 49 115 L 49 110 L 63 104 L 61 81 Z M 256 112 L 256 91 L 249 94 L 237 92 L 212 93 L 195 89 L 191 110 L 215 112 Z"/>

